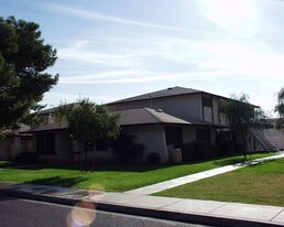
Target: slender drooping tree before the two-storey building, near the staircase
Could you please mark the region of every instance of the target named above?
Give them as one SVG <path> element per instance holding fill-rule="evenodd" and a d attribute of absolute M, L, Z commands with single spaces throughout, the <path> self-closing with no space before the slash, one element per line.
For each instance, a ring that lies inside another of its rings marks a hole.
<path fill-rule="evenodd" d="M 230 99 L 220 101 L 220 112 L 228 118 L 230 130 L 240 133 L 243 143 L 243 155 L 247 158 L 248 134 L 255 120 L 254 107 L 249 104 L 245 95 L 240 97 L 232 95 Z"/>

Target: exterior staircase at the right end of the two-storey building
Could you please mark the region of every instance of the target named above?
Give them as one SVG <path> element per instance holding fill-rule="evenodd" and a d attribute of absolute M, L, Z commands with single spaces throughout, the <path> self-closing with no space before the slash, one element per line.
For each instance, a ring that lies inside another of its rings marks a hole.
<path fill-rule="evenodd" d="M 278 149 L 272 144 L 272 142 L 264 134 L 264 126 L 254 126 L 250 129 L 251 133 L 254 136 L 258 143 L 261 145 L 263 151 L 278 151 Z"/>

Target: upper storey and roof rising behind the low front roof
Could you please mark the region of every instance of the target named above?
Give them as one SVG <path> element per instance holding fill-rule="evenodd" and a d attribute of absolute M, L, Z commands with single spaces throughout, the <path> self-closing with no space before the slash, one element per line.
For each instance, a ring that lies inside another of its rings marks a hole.
<path fill-rule="evenodd" d="M 148 107 L 198 125 L 226 126 L 219 112 L 219 99 L 225 97 L 192 88 L 171 87 L 108 104 L 110 110 Z M 227 99 L 227 98 L 225 98 Z"/>

